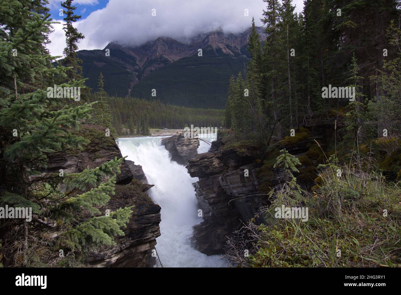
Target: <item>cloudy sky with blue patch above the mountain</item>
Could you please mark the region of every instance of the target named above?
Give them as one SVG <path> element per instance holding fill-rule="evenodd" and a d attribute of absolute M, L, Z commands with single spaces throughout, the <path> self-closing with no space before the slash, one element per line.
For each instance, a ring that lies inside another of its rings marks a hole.
<path fill-rule="evenodd" d="M 107 43 L 141 45 L 157 37 L 172 37 L 185 42 L 196 34 L 209 32 L 221 26 L 225 32 L 238 33 L 256 25 L 265 3 L 262 0 L 74 0 L 76 14 L 82 15 L 76 23 L 85 39 L 79 49 L 103 49 Z M 293 0 L 301 12 L 303 0 Z M 49 0 L 53 24 L 48 46 L 52 55 L 62 55 L 65 47 L 63 17 L 60 0 Z M 156 16 L 152 10 L 156 9 Z M 249 16 L 244 15 L 248 9 Z"/>

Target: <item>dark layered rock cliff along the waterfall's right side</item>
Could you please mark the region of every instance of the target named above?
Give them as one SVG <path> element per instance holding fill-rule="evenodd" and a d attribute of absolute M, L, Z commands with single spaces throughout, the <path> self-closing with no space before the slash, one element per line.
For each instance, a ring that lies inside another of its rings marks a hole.
<path fill-rule="evenodd" d="M 207 255 L 223 253 L 227 236 L 267 205 L 266 196 L 255 196 L 255 153 L 219 149 L 224 143 L 218 136 L 209 153 L 197 155 L 186 166 L 191 177 L 199 177 L 194 187 L 203 222 L 194 226 L 194 240 L 198 250 Z M 249 176 L 244 176 L 245 169 Z"/>

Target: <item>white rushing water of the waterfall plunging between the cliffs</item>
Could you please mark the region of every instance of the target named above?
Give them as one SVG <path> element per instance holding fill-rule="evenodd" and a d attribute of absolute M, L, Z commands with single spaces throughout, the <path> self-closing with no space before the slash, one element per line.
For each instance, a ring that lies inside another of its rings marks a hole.
<path fill-rule="evenodd" d="M 154 184 L 148 192 L 152 200 L 160 205 L 160 232 L 156 249 L 164 267 L 227 267 L 219 255 L 207 256 L 195 250 L 190 244 L 198 217 L 198 203 L 192 183 L 197 177 L 190 177 L 186 168 L 170 161 L 168 151 L 161 145 L 161 139 L 168 136 L 119 138 L 120 151 L 136 165 L 142 165 L 146 178 Z M 213 138 L 206 138 L 212 141 Z M 210 145 L 200 141 L 198 153 L 205 153 Z"/>

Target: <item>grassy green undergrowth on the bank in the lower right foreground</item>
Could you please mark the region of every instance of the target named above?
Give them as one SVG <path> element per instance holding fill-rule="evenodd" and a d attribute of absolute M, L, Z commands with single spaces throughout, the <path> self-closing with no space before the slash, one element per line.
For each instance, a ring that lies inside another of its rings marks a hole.
<path fill-rule="evenodd" d="M 318 166 L 319 181 L 307 192 L 292 175 L 299 165 L 281 151 L 275 166 L 284 183 L 271 189 L 271 206 L 261 208 L 265 224 L 251 220 L 235 232 L 229 260 L 242 267 L 401 266 L 399 182 L 387 181 L 371 157 L 339 165 L 333 155 Z M 308 208 L 307 220 L 276 218 L 282 205 Z"/>

